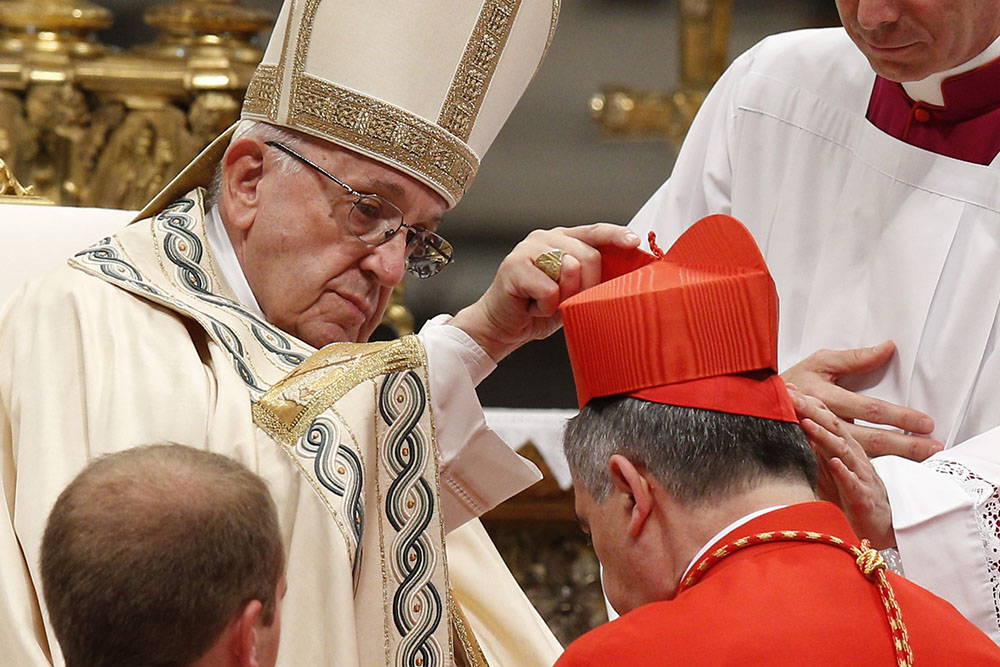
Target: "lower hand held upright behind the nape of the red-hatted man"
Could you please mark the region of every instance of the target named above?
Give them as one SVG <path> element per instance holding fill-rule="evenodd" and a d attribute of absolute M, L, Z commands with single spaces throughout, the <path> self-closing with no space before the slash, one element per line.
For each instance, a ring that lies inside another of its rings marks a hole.
<path fill-rule="evenodd" d="M 854 532 L 876 549 L 896 546 L 889 495 L 861 445 L 819 399 L 794 386 L 788 391 L 819 463 L 817 495 L 840 506 Z"/>

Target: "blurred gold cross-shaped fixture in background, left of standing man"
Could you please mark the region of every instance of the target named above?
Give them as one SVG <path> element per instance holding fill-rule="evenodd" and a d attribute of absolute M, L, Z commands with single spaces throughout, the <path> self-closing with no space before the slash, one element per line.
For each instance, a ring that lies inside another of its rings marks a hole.
<path fill-rule="evenodd" d="M 678 0 L 681 84 L 671 91 L 605 86 L 591 117 L 609 138 L 667 139 L 680 146 L 708 90 L 726 67 L 732 0 Z"/>

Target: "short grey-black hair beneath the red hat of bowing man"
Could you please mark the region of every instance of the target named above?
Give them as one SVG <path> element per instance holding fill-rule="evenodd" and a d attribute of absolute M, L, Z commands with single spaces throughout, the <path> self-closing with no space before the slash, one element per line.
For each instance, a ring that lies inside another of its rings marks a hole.
<path fill-rule="evenodd" d="M 608 460 L 614 454 L 646 468 L 692 506 L 767 479 L 816 486 L 816 459 L 798 424 L 628 396 L 588 403 L 567 424 L 563 448 L 574 476 L 597 502 L 611 491 Z"/>

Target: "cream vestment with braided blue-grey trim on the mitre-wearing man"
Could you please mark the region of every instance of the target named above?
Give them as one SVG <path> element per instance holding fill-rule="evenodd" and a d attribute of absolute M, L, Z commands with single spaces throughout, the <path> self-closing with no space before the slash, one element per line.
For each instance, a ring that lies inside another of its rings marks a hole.
<path fill-rule="evenodd" d="M 268 483 L 288 554 L 279 665 L 551 664 L 558 643 L 472 520 L 537 478 L 485 425 L 492 362 L 440 324 L 319 351 L 270 327 L 222 279 L 200 197 L 0 313 L 0 662 L 62 664 L 38 566 L 61 490 L 95 456 L 169 441 Z"/>

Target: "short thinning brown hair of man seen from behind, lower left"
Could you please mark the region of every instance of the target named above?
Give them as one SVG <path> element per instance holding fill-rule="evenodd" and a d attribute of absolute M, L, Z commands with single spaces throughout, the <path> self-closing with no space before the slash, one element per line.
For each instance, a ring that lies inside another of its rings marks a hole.
<path fill-rule="evenodd" d="M 262 479 L 149 445 L 93 461 L 62 492 L 41 566 L 67 665 L 187 665 L 248 602 L 273 622 L 285 558 Z"/>

